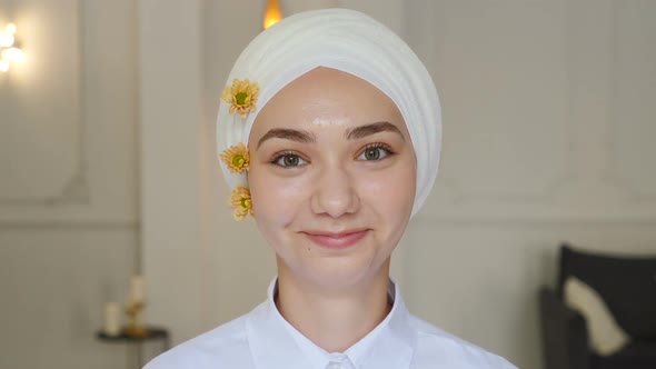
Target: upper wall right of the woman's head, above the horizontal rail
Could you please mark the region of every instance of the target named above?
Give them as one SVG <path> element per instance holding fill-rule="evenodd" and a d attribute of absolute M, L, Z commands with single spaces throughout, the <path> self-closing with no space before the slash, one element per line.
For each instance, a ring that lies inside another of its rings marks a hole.
<path fill-rule="evenodd" d="M 421 216 L 656 222 L 656 104 L 647 101 L 656 42 L 643 7 L 654 4 L 407 7 L 408 38 L 436 80 L 444 119 L 440 173 Z"/>

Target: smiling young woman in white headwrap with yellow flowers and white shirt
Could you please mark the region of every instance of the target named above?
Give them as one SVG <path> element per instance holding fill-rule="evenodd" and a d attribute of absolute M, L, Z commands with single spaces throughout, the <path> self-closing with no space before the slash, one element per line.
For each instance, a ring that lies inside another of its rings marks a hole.
<path fill-rule="evenodd" d="M 437 174 L 435 86 L 390 30 L 350 10 L 289 17 L 237 60 L 219 107 L 235 218 L 276 252 L 269 299 L 147 369 L 515 368 L 411 316 L 389 279 Z"/>

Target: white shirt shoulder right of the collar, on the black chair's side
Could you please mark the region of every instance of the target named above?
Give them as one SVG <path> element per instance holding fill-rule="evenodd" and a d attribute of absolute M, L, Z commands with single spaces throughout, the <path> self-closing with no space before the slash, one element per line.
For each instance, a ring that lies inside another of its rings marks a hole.
<path fill-rule="evenodd" d="M 458 363 L 461 369 L 517 369 L 508 360 L 498 355 L 467 342 L 431 323 L 409 316 L 409 325 L 417 333 L 415 356 L 424 362 Z"/>

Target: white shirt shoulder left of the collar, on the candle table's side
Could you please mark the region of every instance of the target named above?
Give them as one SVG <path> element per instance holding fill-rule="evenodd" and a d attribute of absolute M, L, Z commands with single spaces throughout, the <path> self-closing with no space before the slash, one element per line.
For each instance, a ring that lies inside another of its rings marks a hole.
<path fill-rule="evenodd" d="M 161 353 L 143 369 L 233 368 L 236 358 L 250 358 L 243 315 Z"/>

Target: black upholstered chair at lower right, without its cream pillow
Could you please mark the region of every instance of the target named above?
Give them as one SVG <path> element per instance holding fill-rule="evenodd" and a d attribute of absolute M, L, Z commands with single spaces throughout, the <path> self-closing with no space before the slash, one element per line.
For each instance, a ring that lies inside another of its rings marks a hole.
<path fill-rule="evenodd" d="M 595 255 L 560 246 L 557 289 L 539 291 L 545 369 L 656 369 L 656 257 Z M 589 348 L 584 317 L 563 302 L 574 276 L 595 289 L 632 341 L 610 356 Z"/>

